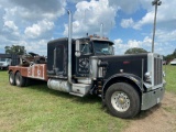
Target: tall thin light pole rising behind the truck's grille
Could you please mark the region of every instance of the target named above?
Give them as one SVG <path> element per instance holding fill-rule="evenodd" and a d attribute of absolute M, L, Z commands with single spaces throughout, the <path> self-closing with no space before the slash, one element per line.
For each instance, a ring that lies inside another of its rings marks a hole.
<path fill-rule="evenodd" d="M 162 1 L 154 0 L 152 6 L 155 6 L 155 15 L 154 15 L 154 25 L 153 25 L 153 40 L 152 40 L 152 53 L 154 53 L 154 40 L 155 40 L 155 30 L 156 30 L 156 13 L 157 13 L 157 6 L 161 6 Z"/>

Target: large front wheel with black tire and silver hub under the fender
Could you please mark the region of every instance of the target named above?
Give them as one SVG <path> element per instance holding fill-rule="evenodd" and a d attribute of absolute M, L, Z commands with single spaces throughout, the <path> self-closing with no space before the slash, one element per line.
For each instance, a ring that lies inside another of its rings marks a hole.
<path fill-rule="evenodd" d="M 117 82 L 106 92 L 106 103 L 111 114 L 129 119 L 140 112 L 140 96 L 129 84 Z"/>

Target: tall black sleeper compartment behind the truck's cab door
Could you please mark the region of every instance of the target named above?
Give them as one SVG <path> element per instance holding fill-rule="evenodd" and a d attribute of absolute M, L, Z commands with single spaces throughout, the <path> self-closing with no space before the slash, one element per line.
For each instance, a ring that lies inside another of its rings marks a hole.
<path fill-rule="evenodd" d="M 72 44 L 73 51 L 75 51 L 75 40 Z M 54 57 L 54 51 L 56 50 L 56 57 Z M 75 53 L 73 52 L 73 64 L 75 63 Z M 56 61 L 54 61 L 56 59 Z M 55 66 L 54 66 L 55 63 Z M 56 68 L 56 69 L 54 69 Z M 73 74 L 75 73 L 75 66 L 73 66 Z M 68 74 L 68 38 L 58 38 L 47 43 L 47 75 L 63 76 L 67 78 Z"/>

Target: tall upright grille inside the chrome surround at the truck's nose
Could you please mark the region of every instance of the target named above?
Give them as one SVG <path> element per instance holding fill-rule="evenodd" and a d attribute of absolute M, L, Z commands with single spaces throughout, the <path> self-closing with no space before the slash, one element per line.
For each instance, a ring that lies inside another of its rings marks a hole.
<path fill-rule="evenodd" d="M 154 58 L 154 86 L 163 81 L 163 64 L 161 58 Z"/>

